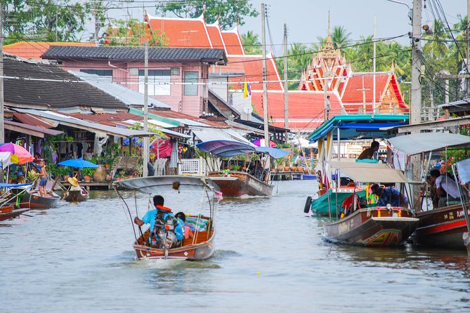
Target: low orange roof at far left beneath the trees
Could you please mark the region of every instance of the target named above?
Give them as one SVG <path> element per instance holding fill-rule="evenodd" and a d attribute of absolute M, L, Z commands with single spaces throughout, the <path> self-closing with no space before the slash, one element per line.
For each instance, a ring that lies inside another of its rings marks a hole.
<path fill-rule="evenodd" d="M 95 46 L 93 42 L 32 42 L 20 41 L 4 46 L 4 52 L 20 58 L 41 60 L 50 46 Z"/>

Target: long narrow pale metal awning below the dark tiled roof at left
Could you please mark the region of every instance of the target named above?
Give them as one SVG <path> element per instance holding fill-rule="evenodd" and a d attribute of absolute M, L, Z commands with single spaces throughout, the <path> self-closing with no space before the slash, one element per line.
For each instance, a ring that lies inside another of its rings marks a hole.
<path fill-rule="evenodd" d="M 58 112 L 52 111 L 41 111 L 38 109 L 19 109 L 15 108 L 16 111 L 22 113 L 29 113 L 35 116 L 40 116 L 44 119 L 50 119 L 52 121 L 58 121 L 63 126 L 69 126 L 73 128 L 83 129 L 84 131 L 90 131 L 99 135 L 114 135 L 121 138 L 131 137 L 150 137 L 155 133 L 136 131 L 129 128 L 120 128 L 115 126 L 106 126 L 91 121 L 85 121 L 84 119 L 77 119 L 73 116 L 66 116 Z"/>

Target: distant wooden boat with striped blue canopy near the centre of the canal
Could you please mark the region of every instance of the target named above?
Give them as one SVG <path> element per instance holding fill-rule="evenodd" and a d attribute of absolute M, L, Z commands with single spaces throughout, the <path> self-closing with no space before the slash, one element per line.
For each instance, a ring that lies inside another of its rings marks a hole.
<path fill-rule="evenodd" d="M 203 152 L 213 156 L 232 157 L 240 154 L 259 152 L 275 159 L 287 156 L 289 152 L 274 147 L 257 147 L 251 142 L 235 140 L 211 140 L 196 145 Z M 252 175 L 253 174 L 253 175 Z M 253 173 L 244 171 L 212 171 L 208 173 L 209 180 L 214 182 L 225 197 L 270 196 L 273 194 L 273 185 L 268 183 L 269 169 L 256 164 Z"/>

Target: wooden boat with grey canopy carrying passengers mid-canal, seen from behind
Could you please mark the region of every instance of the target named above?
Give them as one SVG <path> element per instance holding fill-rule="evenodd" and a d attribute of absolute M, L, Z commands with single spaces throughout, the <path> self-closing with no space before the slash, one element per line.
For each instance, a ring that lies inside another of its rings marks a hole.
<path fill-rule="evenodd" d="M 214 211 L 216 210 L 216 205 L 218 200 L 215 197 L 214 185 L 209 184 L 204 180 L 204 178 L 192 177 L 192 176 L 152 176 L 147 178 L 131 178 L 128 180 L 119 180 L 113 183 L 115 191 L 122 201 L 125 202 L 125 199 L 122 198 L 119 194 L 119 189 L 131 189 L 138 192 L 143 192 L 145 194 L 155 194 L 163 192 L 174 192 L 176 190 L 177 194 L 175 197 L 185 197 L 185 190 L 188 189 L 198 189 L 204 192 L 204 201 L 205 199 L 210 199 L 210 201 L 204 202 L 205 205 L 209 206 L 209 216 L 198 215 L 187 215 L 186 223 L 188 223 L 188 218 L 193 218 L 198 225 L 198 228 L 193 229 L 194 237 L 192 239 L 183 239 L 178 243 L 178 246 L 172 246 L 171 248 L 158 248 L 150 246 L 148 244 L 148 237 L 150 236 L 150 231 L 147 230 L 141 236 L 137 236 L 136 225 L 132 223 L 133 232 L 136 236 L 136 241 L 133 243 L 133 248 L 136 251 L 137 258 L 139 259 L 180 259 L 180 260 L 204 260 L 210 258 L 214 253 L 214 239 L 215 239 L 215 229 L 214 229 Z M 135 201 L 137 205 L 137 201 Z M 126 205 L 129 215 L 132 215 L 129 206 Z M 137 208 L 136 208 L 137 210 Z"/>

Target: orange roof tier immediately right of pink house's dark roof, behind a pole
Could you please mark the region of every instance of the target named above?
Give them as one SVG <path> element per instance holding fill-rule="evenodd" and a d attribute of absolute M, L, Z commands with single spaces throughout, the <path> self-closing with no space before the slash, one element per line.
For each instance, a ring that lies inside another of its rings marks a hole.
<path fill-rule="evenodd" d="M 278 67 L 274 62 L 273 56 L 269 54 L 266 57 L 268 60 L 266 62 L 266 78 L 269 82 L 268 90 L 270 91 L 283 91 L 282 82 L 280 81 L 280 76 L 278 72 Z M 235 64 L 242 64 L 244 67 L 244 78 L 247 81 L 263 81 L 263 57 L 261 55 L 229 55 L 228 56 L 228 66 L 234 66 Z M 243 84 L 243 81 L 240 81 L 240 77 L 230 79 L 234 84 Z M 243 86 L 233 86 L 232 89 L 242 89 Z M 262 91 L 262 83 L 250 84 L 252 91 Z"/>

